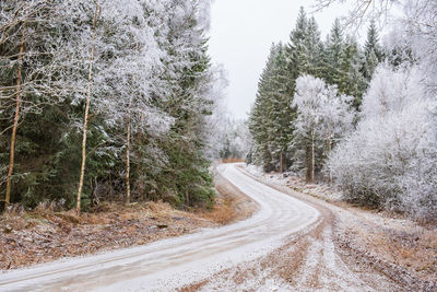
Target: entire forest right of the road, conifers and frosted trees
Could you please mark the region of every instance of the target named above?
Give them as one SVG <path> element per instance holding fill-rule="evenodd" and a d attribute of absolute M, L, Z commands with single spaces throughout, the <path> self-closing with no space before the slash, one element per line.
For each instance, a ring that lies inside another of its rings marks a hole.
<path fill-rule="evenodd" d="M 404 13 L 383 39 L 370 21 L 364 45 L 340 21 L 322 40 L 300 9 L 260 77 L 247 162 L 335 183 L 357 203 L 437 218 L 437 5 L 413 2 L 398 3 Z"/>

